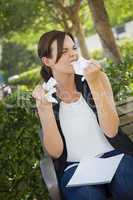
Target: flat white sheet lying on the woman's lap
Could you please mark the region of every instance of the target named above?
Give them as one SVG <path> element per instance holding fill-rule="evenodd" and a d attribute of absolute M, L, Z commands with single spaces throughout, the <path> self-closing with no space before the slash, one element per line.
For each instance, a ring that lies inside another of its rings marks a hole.
<path fill-rule="evenodd" d="M 81 159 L 66 187 L 110 183 L 123 156 Z"/>

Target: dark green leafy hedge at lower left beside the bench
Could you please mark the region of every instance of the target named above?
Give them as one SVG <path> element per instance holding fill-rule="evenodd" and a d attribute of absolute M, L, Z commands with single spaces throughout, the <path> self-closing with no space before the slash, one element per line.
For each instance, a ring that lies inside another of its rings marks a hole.
<path fill-rule="evenodd" d="M 0 102 L 0 200 L 48 200 L 39 167 L 40 123 L 33 102 L 22 104 L 21 97 Z"/>

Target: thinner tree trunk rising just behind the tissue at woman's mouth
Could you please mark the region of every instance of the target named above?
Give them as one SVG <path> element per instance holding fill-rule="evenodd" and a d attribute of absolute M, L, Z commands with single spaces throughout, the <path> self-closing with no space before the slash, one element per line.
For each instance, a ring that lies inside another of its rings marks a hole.
<path fill-rule="evenodd" d="M 80 45 L 81 54 L 84 58 L 89 59 L 89 52 L 85 41 L 85 34 L 78 13 L 76 16 L 72 16 L 71 20 L 73 24 L 74 33 Z"/>

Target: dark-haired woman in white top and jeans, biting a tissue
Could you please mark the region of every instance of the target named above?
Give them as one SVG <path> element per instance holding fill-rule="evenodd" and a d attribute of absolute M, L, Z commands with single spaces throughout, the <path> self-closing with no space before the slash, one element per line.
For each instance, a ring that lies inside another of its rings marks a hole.
<path fill-rule="evenodd" d="M 76 75 L 72 62 L 78 57 L 71 34 L 62 31 L 44 33 L 38 44 L 43 63 L 41 75 L 57 81 L 54 97 L 48 102 L 41 85 L 36 86 L 38 114 L 43 144 L 53 158 L 59 186 L 66 200 L 105 200 L 107 191 L 115 200 L 133 199 L 133 143 L 119 127 L 111 84 L 96 61 L 84 70 L 85 80 Z M 65 187 L 79 161 L 85 155 L 108 157 L 124 153 L 109 184 Z"/>

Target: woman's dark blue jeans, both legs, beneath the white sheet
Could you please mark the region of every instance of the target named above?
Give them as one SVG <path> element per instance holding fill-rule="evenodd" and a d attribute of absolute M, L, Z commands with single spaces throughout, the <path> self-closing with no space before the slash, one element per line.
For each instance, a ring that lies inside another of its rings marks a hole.
<path fill-rule="evenodd" d="M 60 188 L 67 200 L 104 200 L 107 189 L 115 200 L 133 199 L 133 156 L 125 154 L 109 184 L 65 187 L 74 174 L 77 166 L 66 170 L 60 181 Z"/>

